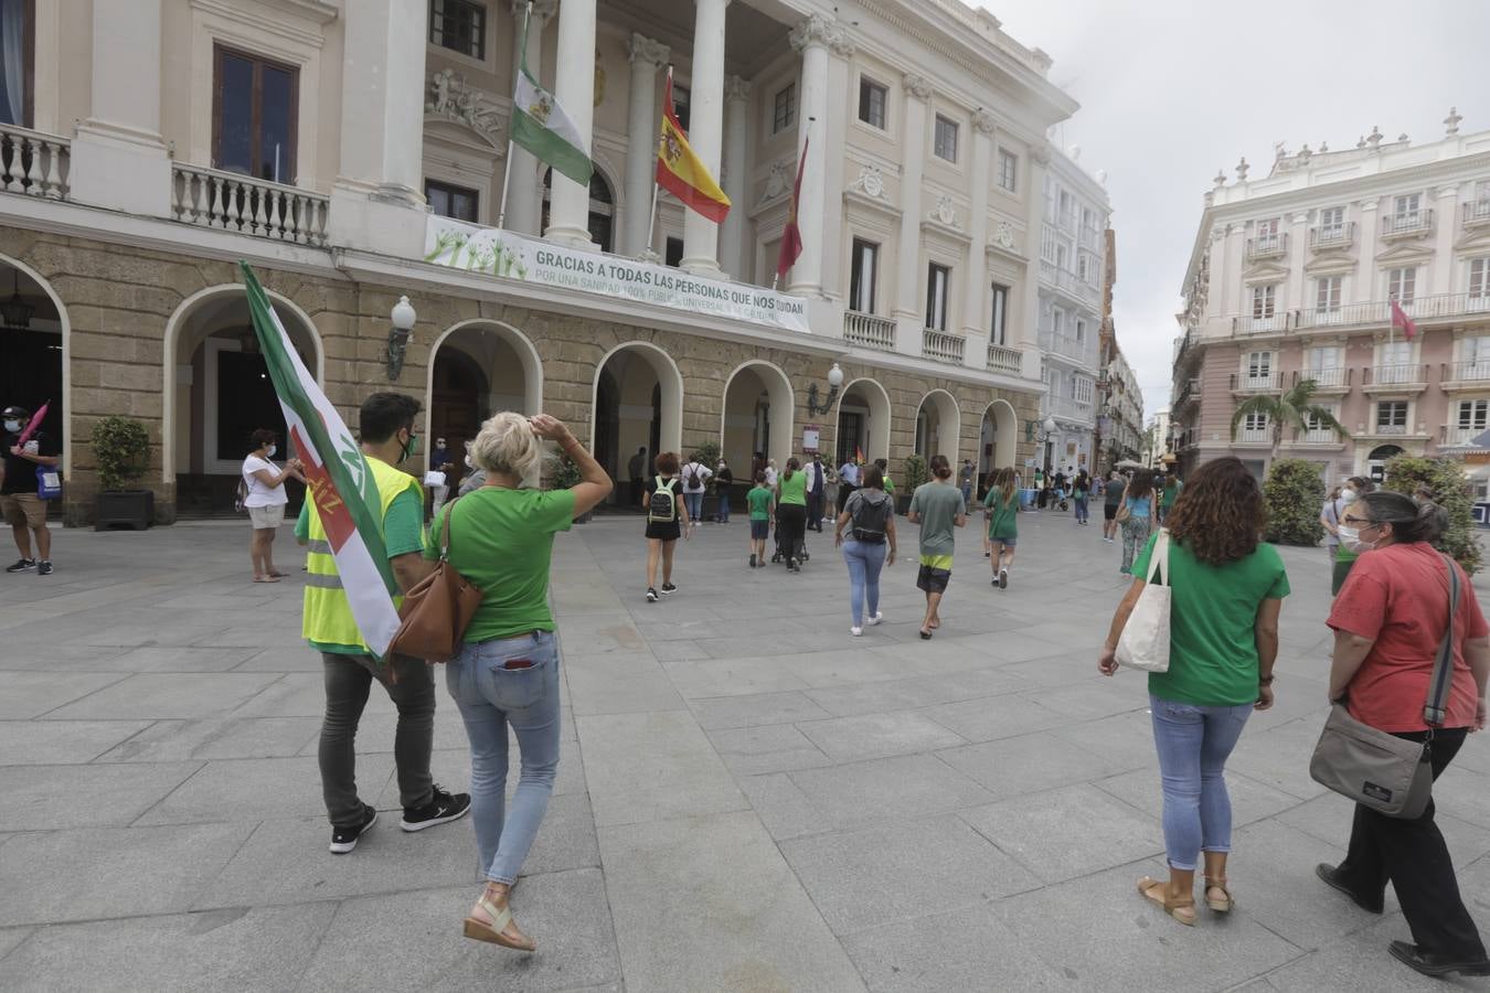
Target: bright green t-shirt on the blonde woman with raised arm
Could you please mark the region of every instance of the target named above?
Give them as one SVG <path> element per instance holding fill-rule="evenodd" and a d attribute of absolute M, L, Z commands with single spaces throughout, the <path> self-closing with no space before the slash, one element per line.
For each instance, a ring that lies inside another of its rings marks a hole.
<path fill-rule="evenodd" d="M 548 563 L 554 534 L 574 523 L 574 490 L 481 487 L 429 524 L 425 558 L 440 558 L 440 536 L 451 508 L 459 509 L 450 518 L 450 564 L 486 591 L 466 642 L 553 631 Z"/>

